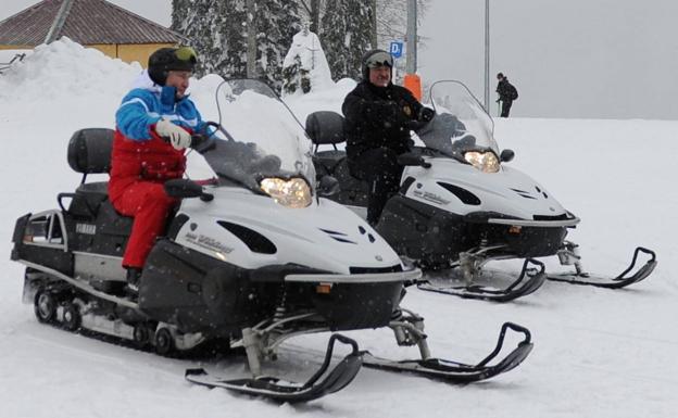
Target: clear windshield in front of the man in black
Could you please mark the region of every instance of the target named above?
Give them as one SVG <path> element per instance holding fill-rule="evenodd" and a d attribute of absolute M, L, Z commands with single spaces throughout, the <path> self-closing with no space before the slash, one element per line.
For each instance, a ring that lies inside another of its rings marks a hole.
<path fill-rule="evenodd" d="M 430 103 L 436 117 L 417 131 L 426 148 L 461 161 L 469 151 L 492 151 L 499 156 L 492 118 L 466 86 L 437 81 L 430 88 Z"/>

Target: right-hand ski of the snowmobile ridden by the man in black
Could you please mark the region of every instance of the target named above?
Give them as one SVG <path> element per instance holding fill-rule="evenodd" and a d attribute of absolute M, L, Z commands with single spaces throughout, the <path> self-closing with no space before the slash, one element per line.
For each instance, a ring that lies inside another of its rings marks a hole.
<path fill-rule="evenodd" d="M 574 248 L 576 249 L 576 244 L 574 245 Z M 568 249 L 572 249 L 572 246 L 568 246 Z M 640 253 L 645 253 L 650 255 L 650 259 L 631 275 L 630 273 L 635 269 Z M 562 281 L 570 284 L 594 286 L 605 289 L 622 289 L 645 279 L 652 274 L 654 267 L 656 267 L 657 265 L 656 254 L 654 253 L 654 251 L 638 246 L 636 248 L 636 251 L 633 251 L 633 258 L 631 259 L 631 264 L 626 268 L 626 270 L 624 270 L 619 276 L 615 278 L 610 278 L 582 271 L 581 265 L 579 264 L 580 257 L 578 253 L 576 253 L 576 251 L 568 254 L 568 256 L 577 257 L 577 261 L 573 263 L 575 264 L 577 271 L 548 275 L 549 280 Z"/>

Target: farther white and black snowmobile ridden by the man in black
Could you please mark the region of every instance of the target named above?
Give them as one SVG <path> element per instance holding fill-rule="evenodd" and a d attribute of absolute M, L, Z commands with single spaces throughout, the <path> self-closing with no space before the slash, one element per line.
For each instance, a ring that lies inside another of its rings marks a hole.
<path fill-rule="evenodd" d="M 631 265 L 614 279 L 586 273 L 577 244 L 565 240 L 580 219 L 543 186 L 505 164 L 514 152 L 500 152 L 492 118 L 468 88 L 455 80 L 438 81 L 430 88 L 430 104 L 436 116 L 413 127 L 412 152 L 399 157 L 405 166 L 399 193 L 375 226 L 399 254 L 425 270 L 450 271 L 444 278 L 428 273 L 420 289 L 505 302 L 535 292 L 547 279 L 623 288 L 652 273 L 656 257 L 644 248 L 636 249 Z M 306 131 L 315 144 L 318 175 L 334 176 L 340 185 L 331 199 L 365 217 L 369 185 L 351 176 L 346 152 L 337 148 L 344 141 L 342 116 L 312 113 Z M 641 253 L 649 259 L 636 267 Z M 576 270 L 547 274 L 535 258 L 551 255 Z M 485 268 L 505 258 L 525 259 L 519 274 Z M 497 281 L 508 284 L 498 287 Z"/>

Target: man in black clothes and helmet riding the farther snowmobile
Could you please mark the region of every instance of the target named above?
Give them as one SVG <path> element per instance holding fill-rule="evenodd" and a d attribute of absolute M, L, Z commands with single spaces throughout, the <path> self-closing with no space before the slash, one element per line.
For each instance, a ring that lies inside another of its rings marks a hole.
<path fill-rule="evenodd" d="M 392 68 L 393 59 L 388 52 L 367 52 L 363 58 L 363 80 L 346 97 L 341 107 L 349 170 L 371 186 L 371 225 L 377 224 L 386 202 L 398 191 L 403 172 L 398 155 L 410 151 L 410 130 L 435 115 L 410 90 L 391 83 Z"/>

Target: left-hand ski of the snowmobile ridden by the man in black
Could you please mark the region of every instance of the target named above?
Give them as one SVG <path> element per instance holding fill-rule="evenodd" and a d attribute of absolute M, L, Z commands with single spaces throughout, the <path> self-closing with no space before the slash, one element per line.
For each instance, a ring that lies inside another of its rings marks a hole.
<path fill-rule="evenodd" d="M 535 265 L 537 269 L 535 269 L 535 267 L 529 267 L 530 264 Z M 544 273 L 543 263 L 532 258 L 526 258 L 518 278 L 504 289 L 479 284 L 444 286 L 432 283 L 429 280 L 419 282 L 417 288 L 429 292 L 452 294 L 464 299 L 510 302 L 535 292 L 545 281 L 547 274 Z"/>

